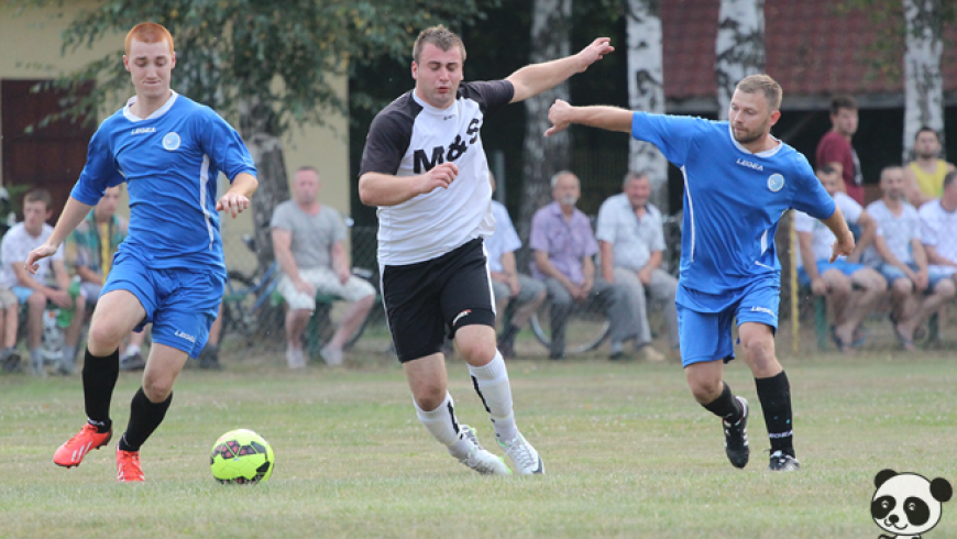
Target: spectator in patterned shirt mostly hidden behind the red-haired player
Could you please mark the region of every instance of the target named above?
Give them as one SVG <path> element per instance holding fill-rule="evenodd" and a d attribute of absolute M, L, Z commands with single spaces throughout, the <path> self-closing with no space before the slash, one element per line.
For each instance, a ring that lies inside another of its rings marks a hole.
<path fill-rule="evenodd" d="M 76 251 L 75 267 L 80 278 L 80 292 L 89 304 L 96 304 L 100 297 L 113 255 L 127 239 L 127 221 L 116 215 L 121 189 L 121 186 L 107 188 L 103 198 L 67 238 L 68 248 Z M 142 371 L 146 367 L 140 350 L 145 334 L 145 330 L 130 332 L 130 344 L 120 360 L 121 370 Z"/>

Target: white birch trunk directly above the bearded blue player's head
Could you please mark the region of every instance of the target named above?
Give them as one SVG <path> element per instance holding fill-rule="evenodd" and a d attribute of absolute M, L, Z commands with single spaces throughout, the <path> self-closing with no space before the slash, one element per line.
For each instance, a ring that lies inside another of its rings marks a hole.
<path fill-rule="evenodd" d="M 765 73 L 765 0 L 722 0 L 714 75 L 718 119 L 728 119 L 735 86 Z"/>

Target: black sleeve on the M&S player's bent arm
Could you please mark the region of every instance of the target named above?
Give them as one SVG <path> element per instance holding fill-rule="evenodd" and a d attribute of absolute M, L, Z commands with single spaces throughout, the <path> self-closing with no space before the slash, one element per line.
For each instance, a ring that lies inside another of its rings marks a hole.
<path fill-rule="evenodd" d="M 403 155 L 409 148 L 413 123 L 419 110 L 421 107 L 409 92 L 375 116 L 365 136 L 365 147 L 362 150 L 362 162 L 359 166 L 360 177 L 365 173 L 394 175 L 398 172 Z"/>

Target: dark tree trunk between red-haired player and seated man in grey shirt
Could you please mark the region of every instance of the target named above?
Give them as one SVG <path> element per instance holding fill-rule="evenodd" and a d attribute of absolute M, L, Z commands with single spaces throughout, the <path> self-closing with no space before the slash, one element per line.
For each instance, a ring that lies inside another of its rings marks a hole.
<path fill-rule="evenodd" d="M 260 186 L 252 198 L 253 233 L 256 240 L 256 260 L 265 270 L 275 260 L 270 221 L 279 202 L 289 199 L 289 182 L 283 156 L 283 141 L 276 133 L 277 118 L 268 106 L 244 101 L 239 106 L 240 133 L 256 164 Z"/>

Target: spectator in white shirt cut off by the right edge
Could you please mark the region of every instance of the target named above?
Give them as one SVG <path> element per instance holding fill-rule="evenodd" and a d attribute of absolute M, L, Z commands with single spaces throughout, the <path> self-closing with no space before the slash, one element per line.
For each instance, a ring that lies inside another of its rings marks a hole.
<path fill-rule="evenodd" d="M 921 242 L 927 252 L 928 271 L 957 278 L 957 170 L 944 176 L 939 200 L 921 206 Z"/>

